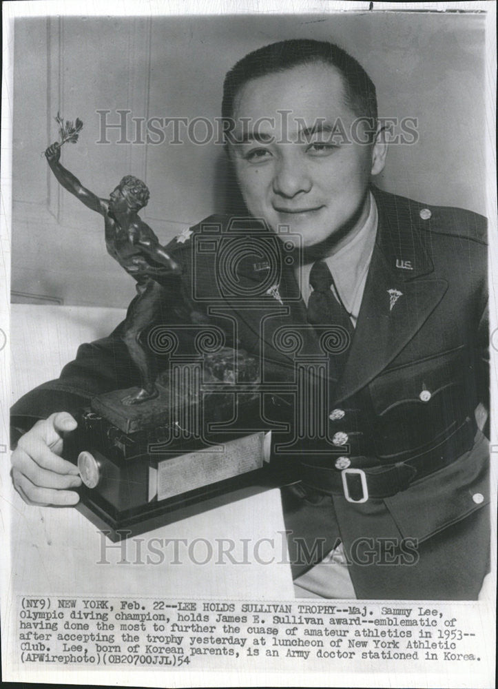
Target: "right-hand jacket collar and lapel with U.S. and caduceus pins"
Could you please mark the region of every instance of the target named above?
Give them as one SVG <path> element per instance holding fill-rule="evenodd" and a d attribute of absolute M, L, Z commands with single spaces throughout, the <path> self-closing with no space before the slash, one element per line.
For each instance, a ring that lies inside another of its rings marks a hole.
<path fill-rule="evenodd" d="M 430 234 L 422 231 L 427 215 L 422 211 L 428 209 L 380 189 L 372 192 L 379 229 L 351 352 L 335 389 L 337 400 L 378 376 L 415 337 L 448 289 L 446 280 L 431 275 Z"/>

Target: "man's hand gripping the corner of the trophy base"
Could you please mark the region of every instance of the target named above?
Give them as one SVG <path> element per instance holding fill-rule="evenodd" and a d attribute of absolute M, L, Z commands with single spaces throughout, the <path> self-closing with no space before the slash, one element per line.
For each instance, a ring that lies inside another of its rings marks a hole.
<path fill-rule="evenodd" d="M 81 486 L 79 471 L 60 456 L 63 432 L 74 431 L 76 421 L 65 411 L 37 421 L 12 453 L 12 480 L 25 502 L 37 505 L 74 505 Z"/>

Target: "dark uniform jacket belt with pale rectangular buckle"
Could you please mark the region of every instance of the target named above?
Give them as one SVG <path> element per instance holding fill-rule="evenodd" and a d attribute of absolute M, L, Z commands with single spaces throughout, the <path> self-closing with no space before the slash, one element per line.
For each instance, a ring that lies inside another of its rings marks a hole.
<path fill-rule="evenodd" d="M 331 495 L 344 495 L 348 502 L 366 502 L 369 497 L 391 497 L 406 491 L 411 484 L 455 462 L 474 443 L 477 424 L 467 418 L 443 442 L 394 464 L 360 469 L 349 466 L 338 471 L 328 466 L 301 462 L 301 480 L 305 486 Z M 354 461 L 354 457 L 351 457 Z"/>

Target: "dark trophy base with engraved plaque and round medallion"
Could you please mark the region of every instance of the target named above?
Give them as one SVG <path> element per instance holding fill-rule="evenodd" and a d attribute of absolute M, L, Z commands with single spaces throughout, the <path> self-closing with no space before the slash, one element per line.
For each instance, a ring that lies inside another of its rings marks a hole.
<path fill-rule="evenodd" d="M 64 445 L 83 480 L 80 511 L 113 542 L 293 481 L 264 461 L 264 429 L 200 438 L 180 427 L 180 408 L 165 389 L 123 404 L 134 391 L 94 398 Z M 233 400 L 216 409 L 218 418 L 232 418 Z M 181 407 L 180 418 L 188 417 Z"/>

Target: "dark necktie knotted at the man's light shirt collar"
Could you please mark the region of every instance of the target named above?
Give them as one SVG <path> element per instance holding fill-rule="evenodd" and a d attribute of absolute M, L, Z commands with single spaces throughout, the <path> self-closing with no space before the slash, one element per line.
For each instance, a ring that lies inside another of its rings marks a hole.
<path fill-rule="evenodd" d="M 313 263 L 309 283 L 313 291 L 308 300 L 308 322 L 312 325 L 338 326 L 331 342 L 336 342 L 337 345 L 336 351 L 333 352 L 335 364 L 343 367 L 351 348 L 354 328 L 344 304 L 340 298 L 335 298 L 331 290 L 331 286 L 335 287 L 335 284 L 325 261 L 318 260 Z M 337 292 L 337 289 L 335 291 Z"/>

